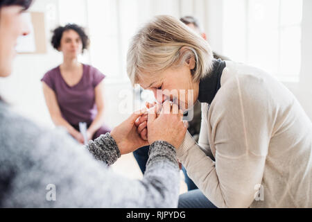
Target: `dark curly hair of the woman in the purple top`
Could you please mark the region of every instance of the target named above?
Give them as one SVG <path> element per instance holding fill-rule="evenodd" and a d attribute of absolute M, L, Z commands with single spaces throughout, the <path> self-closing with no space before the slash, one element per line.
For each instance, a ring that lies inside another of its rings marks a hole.
<path fill-rule="evenodd" d="M 78 33 L 78 35 L 80 36 L 81 42 L 83 42 L 83 51 L 87 49 L 89 46 L 89 37 L 85 33 L 84 28 L 76 24 L 67 24 L 66 26 L 58 26 L 58 28 L 55 28 L 52 31 L 53 36 L 51 39 L 51 44 L 53 48 L 58 50 L 58 48 L 60 47 L 60 41 L 62 39 L 62 35 L 64 31 L 69 31 L 69 30 L 76 31 L 76 33 Z"/>

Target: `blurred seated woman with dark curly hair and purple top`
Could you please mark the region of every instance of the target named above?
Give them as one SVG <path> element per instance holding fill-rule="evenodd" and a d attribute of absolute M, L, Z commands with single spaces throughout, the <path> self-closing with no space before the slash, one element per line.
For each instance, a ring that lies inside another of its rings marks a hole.
<path fill-rule="evenodd" d="M 87 123 L 87 140 L 110 132 L 103 126 L 103 79 L 98 69 L 78 62 L 78 55 L 87 49 L 89 38 L 76 24 L 55 28 L 51 43 L 62 52 L 63 62 L 42 78 L 44 97 L 53 123 L 83 143 L 79 123 Z"/>

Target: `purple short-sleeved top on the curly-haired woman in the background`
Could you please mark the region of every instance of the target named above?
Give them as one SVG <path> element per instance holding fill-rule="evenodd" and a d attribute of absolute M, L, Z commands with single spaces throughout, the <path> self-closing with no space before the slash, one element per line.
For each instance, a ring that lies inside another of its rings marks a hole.
<path fill-rule="evenodd" d="M 55 92 L 62 117 L 71 125 L 79 122 L 92 123 L 97 114 L 94 88 L 105 76 L 98 69 L 83 65 L 83 76 L 72 87 L 67 85 L 60 73 L 60 66 L 51 69 L 42 78 Z"/>

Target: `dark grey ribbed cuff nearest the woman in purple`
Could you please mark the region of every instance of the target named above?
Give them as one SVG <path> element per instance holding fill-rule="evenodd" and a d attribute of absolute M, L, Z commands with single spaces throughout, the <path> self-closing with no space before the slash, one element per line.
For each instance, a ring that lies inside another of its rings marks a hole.
<path fill-rule="evenodd" d="M 87 149 L 96 160 L 102 160 L 108 165 L 114 164 L 120 157 L 119 148 L 110 133 L 101 135 L 94 141 L 90 140 Z"/>

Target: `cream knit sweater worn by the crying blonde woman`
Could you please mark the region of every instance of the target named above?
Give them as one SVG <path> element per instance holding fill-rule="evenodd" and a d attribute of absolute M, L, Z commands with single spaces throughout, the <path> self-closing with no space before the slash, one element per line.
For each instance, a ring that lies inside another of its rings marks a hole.
<path fill-rule="evenodd" d="M 177 158 L 214 205 L 312 207 L 312 124 L 275 78 L 226 61 L 201 124 L 198 144 L 187 133 Z"/>

